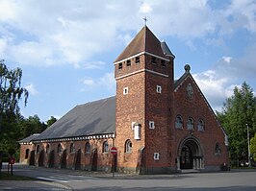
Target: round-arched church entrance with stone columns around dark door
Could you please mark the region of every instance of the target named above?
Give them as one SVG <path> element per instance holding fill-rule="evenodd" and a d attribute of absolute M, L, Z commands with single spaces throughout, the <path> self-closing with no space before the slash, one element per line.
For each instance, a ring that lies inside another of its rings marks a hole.
<path fill-rule="evenodd" d="M 194 136 L 183 139 L 178 149 L 177 168 L 202 169 L 204 168 L 203 152 L 199 140 Z"/>

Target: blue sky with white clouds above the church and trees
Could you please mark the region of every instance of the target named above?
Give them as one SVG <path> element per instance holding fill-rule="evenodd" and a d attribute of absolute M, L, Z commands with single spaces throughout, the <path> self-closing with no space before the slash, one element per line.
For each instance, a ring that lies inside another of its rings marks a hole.
<path fill-rule="evenodd" d="M 255 92 L 255 0 L 0 0 L 0 59 L 30 93 L 22 114 L 46 121 L 115 95 L 113 62 L 144 16 L 176 56 L 175 79 L 189 63 L 214 110 L 244 81 Z"/>

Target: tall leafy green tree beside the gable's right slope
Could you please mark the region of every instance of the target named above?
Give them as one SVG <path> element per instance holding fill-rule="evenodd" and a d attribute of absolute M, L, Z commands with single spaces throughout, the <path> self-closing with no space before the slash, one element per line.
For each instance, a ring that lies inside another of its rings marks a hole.
<path fill-rule="evenodd" d="M 253 89 L 246 83 L 235 87 L 234 94 L 226 99 L 222 111 L 217 112 L 229 138 L 229 156 L 231 164 L 239 165 L 239 161 L 247 160 L 247 129 L 250 136 L 256 132 L 256 98 Z"/>

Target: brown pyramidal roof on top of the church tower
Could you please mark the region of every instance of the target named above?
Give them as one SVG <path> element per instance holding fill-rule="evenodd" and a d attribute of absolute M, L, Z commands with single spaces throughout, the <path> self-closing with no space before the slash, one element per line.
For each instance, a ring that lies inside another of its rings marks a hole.
<path fill-rule="evenodd" d="M 165 47 L 166 48 L 166 47 Z M 144 26 L 114 62 L 125 60 L 142 52 L 166 58 L 159 39 Z M 169 53 L 170 51 L 168 51 Z"/>

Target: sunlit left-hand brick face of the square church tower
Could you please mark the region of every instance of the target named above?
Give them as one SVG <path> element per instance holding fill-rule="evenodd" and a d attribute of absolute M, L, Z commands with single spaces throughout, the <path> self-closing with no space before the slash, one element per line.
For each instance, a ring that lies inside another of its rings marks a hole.
<path fill-rule="evenodd" d="M 121 70 L 115 65 L 115 77 L 135 72 L 143 68 L 144 56 L 141 62 L 132 60 L 131 66 L 123 64 Z M 128 94 L 123 95 L 123 88 L 128 87 Z M 119 169 L 134 171 L 138 163 L 138 150 L 144 147 L 144 105 L 145 105 L 145 73 L 141 72 L 132 76 L 116 80 L 116 103 L 115 103 L 115 146 L 117 147 L 117 166 Z M 141 124 L 141 140 L 135 140 L 132 123 Z M 125 142 L 132 141 L 132 153 L 125 153 Z M 126 171 L 125 170 L 125 171 Z"/>

